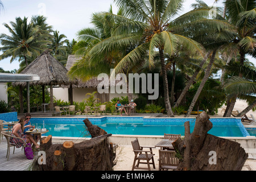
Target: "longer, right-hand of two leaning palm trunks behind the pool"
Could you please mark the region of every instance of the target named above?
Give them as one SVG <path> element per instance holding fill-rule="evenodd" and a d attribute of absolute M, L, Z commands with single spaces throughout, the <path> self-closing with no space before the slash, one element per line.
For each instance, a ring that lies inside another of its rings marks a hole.
<path fill-rule="evenodd" d="M 215 49 L 213 51 L 212 56 L 210 57 L 210 62 L 208 64 L 207 71 L 205 72 L 204 78 L 201 81 L 201 84 L 200 84 L 199 88 L 197 89 L 197 92 L 196 92 L 196 94 L 195 94 L 195 96 L 194 96 L 194 98 L 193 98 L 193 100 L 192 100 L 192 102 L 189 106 L 189 109 L 188 109 L 187 113 L 184 115 L 184 117 L 189 117 L 189 115 L 191 114 L 191 112 L 193 110 L 193 107 L 196 104 L 197 98 L 199 97 L 201 91 L 203 90 L 205 82 L 208 80 L 208 77 L 210 75 L 210 70 L 212 69 L 212 64 L 213 64 L 213 61 L 215 59 L 216 52 L 217 52 L 217 49 Z"/>

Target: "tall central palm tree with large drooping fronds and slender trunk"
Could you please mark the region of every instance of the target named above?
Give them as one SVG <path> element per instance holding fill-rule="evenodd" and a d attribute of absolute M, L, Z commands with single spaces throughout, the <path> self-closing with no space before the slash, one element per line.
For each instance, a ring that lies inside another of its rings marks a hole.
<path fill-rule="evenodd" d="M 139 63 L 148 53 L 149 67 L 154 66 L 154 56 L 157 50 L 160 57 L 161 73 L 164 85 L 164 102 L 167 115 L 173 117 L 168 90 L 168 80 L 166 74 L 166 61 L 164 53 L 174 55 L 178 44 L 183 49 L 189 49 L 191 54 L 200 53 L 203 56 L 203 47 L 192 39 L 173 34 L 169 25 L 171 18 L 181 9 L 183 1 L 125 1 L 116 0 L 117 6 L 125 12 L 125 17 L 112 15 L 112 18 L 122 19 L 121 23 L 114 28 L 112 37 L 105 39 L 88 51 L 90 57 L 98 59 L 107 51 L 117 47 L 135 47 L 127 53 L 115 67 L 115 72 L 123 72 L 130 68 L 130 65 Z M 108 14 L 110 15 L 110 14 Z M 101 52 L 100 52 L 101 50 Z M 101 53 L 101 55 L 99 55 Z M 103 54 L 102 54 L 103 53 Z"/>

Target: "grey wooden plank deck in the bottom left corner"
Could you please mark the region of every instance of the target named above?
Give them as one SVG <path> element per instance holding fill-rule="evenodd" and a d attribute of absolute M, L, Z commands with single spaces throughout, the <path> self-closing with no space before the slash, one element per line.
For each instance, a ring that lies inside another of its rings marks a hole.
<path fill-rule="evenodd" d="M 6 158 L 7 142 L 5 137 L 0 142 L 0 171 L 24 171 L 26 170 L 32 160 L 28 160 L 22 148 L 15 148 L 13 154 L 13 147 L 11 147 L 9 160 Z"/>

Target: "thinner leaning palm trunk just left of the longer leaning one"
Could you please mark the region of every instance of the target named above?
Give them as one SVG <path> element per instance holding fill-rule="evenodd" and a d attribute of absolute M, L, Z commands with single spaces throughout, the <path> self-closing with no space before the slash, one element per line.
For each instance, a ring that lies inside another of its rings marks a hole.
<path fill-rule="evenodd" d="M 201 61 L 199 67 L 202 68 L 205 61 L 208 59 L 208 56 L 209 56 L 210 52 L 208 52 L 204 59 Z M 192 85 L 193 81 L 195 80 L 196 76 L 198 75 L 199 73 L 199 69 L 197 69 L 195 71 L 195 73 L 192 75 L 192 77 L 190 78 L 190 80 L 188 81 L 187 85 L 185 86 L 185 88 L 182 90 L 181 94 L 180 94 L 180 97 L 178 98 L 177 102 L 175 103 L 174 105 L 174 108 L 178 107 L 180 105 L 180 102 L 183 100 L 183 98 L 185 97 L 185 94 L 188 92 L 188 89 L 189 87 Z"/>

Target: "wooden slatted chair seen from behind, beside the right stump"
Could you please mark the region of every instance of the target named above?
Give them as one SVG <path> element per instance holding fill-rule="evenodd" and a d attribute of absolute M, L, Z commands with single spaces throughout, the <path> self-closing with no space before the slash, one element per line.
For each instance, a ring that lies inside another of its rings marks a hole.
<path fill-rule="evenodd" d="M 175 151 L 159 150 L 159 171 L 177 168 L 179 159 L 175 154 Z"/>

